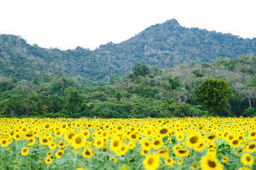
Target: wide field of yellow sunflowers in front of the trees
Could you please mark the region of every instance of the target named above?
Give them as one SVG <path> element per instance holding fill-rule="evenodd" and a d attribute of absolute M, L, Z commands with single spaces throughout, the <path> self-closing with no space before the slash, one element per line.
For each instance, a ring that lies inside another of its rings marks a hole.
<path fill-rule="evenodd" d="M 0 169 L 256 169 L 256 118 L 1 118 Z"/>

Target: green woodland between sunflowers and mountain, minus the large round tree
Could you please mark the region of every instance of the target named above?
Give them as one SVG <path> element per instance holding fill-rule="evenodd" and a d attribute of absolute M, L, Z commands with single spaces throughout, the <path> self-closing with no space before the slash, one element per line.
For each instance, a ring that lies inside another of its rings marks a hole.
<path fill-rule="evenodd" d="M 202 117 L 256 113 L 256 57 L 219 58 L 214 64 L 180 64 L 162 70 L 136 63 L 131 73 L 112 76 L 109 85 L 89 88 L 79 78 L 0 81 L 2 117 Z M 212 113 L 198 97 L 205 80 L 227 81 L 232 96 Z"/>

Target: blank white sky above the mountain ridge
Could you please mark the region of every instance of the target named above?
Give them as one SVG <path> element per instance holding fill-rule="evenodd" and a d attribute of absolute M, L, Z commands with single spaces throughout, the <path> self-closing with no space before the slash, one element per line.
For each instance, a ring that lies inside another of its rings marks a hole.
<path fill-rule="evenodd" d="M 255 6 L 255 0 L 0 0 L 0 34 L 44 48 L 94 50 L 175 18 L 184 27 L 256 38 Z"/>

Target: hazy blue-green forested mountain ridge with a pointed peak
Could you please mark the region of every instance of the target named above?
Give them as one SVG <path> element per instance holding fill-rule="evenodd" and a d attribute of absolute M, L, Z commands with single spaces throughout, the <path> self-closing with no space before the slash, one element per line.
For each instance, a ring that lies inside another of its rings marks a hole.
<path fill-rule="evenodd" d="M 174 64 L 213 62 L 217 57 L 256 55 L 256 38 L 243 39 L 167 20 L 141 31 L 122 43 L 107 43 L 96 50 L 41 48 L 20 36 L 0 35 L 0 79 L 31 81 L 47 77 L 77 77 L 85 85 L 108 83 L 125 75 L 135 62 L 160 69 Z"/>

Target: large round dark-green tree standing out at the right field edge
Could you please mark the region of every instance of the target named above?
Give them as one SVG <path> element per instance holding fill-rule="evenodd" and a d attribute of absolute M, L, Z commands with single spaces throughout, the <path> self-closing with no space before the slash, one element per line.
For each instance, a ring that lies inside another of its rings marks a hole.
<path fill-rule="evenodd" d="M 231 96 L 232 91 L 225 80 L 208 79 L 198 87 L 196 101 L 205 104 L 212 113 L 220 113 L 227 109 Z"/>

